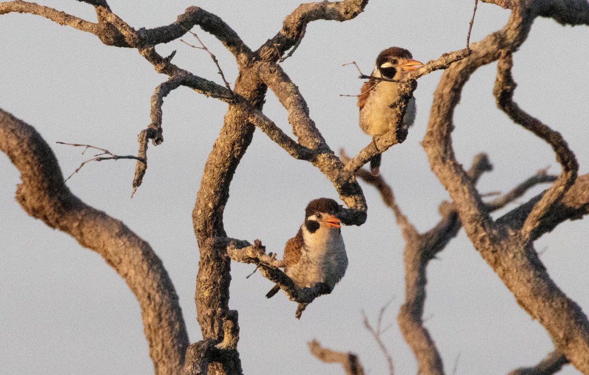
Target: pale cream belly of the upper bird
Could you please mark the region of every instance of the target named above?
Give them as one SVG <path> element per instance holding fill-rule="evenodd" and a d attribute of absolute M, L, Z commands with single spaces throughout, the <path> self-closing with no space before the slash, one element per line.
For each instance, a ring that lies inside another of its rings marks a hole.
<path fill-rule="evenodd" d="M 360 111 L 360 128 L 368 135 L 383 135 L 391 130 L 391 119 L 395 109 L 391 108 L 398 99 L 398 85 L 392 82 L 380 82 L 376 85 L 369 99 Z M 413 125 L 415 121 L 415 98 L 407 103 L 403 126 Z"/>

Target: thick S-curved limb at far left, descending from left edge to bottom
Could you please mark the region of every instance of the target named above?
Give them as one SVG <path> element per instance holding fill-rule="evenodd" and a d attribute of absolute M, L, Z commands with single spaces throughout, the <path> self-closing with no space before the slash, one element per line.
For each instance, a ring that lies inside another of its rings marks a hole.
<path fill-rule="evenodd" d="M 0 149 L 21 172 L 16 200 L 22 208 L 99 253 L 125 279 L 141 307 L 155 374 L 177 374 L 188 334 L 174 286 L 153 249 L 122 222 L 73 195 L 41 135 L 1 110 Z"/>

